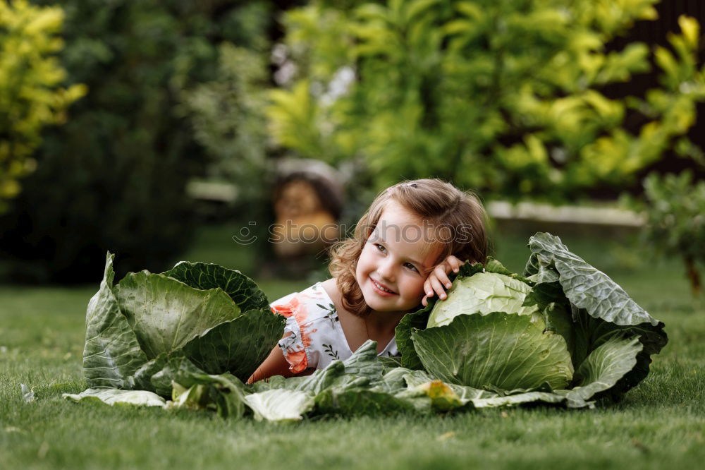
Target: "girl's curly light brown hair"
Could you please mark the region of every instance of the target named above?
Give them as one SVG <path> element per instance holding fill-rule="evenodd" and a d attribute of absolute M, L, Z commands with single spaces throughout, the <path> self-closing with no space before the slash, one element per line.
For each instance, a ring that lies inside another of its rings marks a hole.
<path fill-rule="evenodd" d="M 431 227 L 443 227 L 439 242 L 443 249 L 434 265 L 449 255 L 470 263 L 483 263 L 487 257 L 487 215 L 477 195 L 460 191 L 441 179 L 417 179 L 398 183 L 382 191 L 355 226 L 353 238 L 339 241 L 329 249 L 329 271 L 343 296 L 343 307 L 364 316 L 372 310 L 362 296 L 355 279 L 357 259 L 376 227 L 389 200 L 396 200 L 427 221 Z"/>

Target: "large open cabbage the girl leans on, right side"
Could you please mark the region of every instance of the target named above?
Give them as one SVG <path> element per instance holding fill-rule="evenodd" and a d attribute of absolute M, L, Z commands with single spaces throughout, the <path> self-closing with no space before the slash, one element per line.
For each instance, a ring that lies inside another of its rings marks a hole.
<path fill-rule="evenodd" d="M 539 233 L 529 248 L 525 277 L 496 260 L 464 265 L 447 299 L 403 318 L 402 366 L 503 396 L 540 391 L 568 406 L 637 385 L 666 344 L 663 323 L 558 237 Z"/>

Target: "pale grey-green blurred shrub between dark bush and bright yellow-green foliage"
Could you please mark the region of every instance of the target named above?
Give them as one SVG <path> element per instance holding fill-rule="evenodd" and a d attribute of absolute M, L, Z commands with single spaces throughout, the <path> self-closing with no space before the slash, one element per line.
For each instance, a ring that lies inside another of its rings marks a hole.
<path fill-rule="evenodd" d="M 260 259 L 274 255 L 266 243 L 269 221 L 274 220 L 271 196 L 276 178 L 264 114 L 268 79 L 262 50 L 223 43 L 213 80 L 183 93 L 195 139 L 209 157 L 205 176 L 237 188 L 228 211 L 257 236 L 259 242 L 251 248 Z M 252 227 L 249 221 L 262 223 Z"/>

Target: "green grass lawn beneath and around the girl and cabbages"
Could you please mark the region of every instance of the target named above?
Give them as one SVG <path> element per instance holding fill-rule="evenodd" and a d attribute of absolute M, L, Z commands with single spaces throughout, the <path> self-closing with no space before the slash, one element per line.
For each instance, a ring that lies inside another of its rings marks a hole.
<path fill-rule="evenodd" d="M 185 259 L 247 272 L 232 227 L 204 229 Z M 520 271 L 525 234 L 499 239 L 498 258 Z M 0 286 L 1 469 L 680 469 L 705 460 L 705 309 L 682 268 L 603 239 L 564 239 L 667 325 L 651 374 L 616 404 L 452 416 L 313 419 L 291 426 L 224 421 L 206 413 L 73 404 L 81 375 L 87 287 Z M 306 282 L 264 281 L 270 299 Z M 34 387 L 23 402 L 20 384 Z"/>

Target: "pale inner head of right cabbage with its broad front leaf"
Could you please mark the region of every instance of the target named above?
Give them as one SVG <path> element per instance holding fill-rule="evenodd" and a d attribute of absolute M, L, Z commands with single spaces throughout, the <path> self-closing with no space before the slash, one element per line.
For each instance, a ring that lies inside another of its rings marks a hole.
<path fill-rule="evenodd" d="M 563 389 L 573 367 L 565 339 L 546 330 L 531 286 L 498 272 L 455 279 L 448 297 L 414 332 L 425 368 L 458 385 L 501 390 Z"/>

